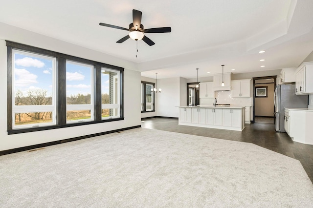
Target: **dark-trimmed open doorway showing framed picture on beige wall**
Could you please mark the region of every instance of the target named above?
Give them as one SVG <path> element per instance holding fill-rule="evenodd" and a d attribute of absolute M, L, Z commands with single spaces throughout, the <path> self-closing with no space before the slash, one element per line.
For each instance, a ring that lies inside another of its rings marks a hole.
<path fill-rule="evenodd" d="M 253 78 L 253 123 L 275 123 L 276 76 Z"/>

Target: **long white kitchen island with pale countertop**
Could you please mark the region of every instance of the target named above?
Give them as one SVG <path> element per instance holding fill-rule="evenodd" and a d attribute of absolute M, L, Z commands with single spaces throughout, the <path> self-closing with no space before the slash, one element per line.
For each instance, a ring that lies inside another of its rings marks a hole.
<path fill-rule="evenodd" d="M 245 107 L 233 105 L 179 106 L 179 125 L 242 131 Z"/>

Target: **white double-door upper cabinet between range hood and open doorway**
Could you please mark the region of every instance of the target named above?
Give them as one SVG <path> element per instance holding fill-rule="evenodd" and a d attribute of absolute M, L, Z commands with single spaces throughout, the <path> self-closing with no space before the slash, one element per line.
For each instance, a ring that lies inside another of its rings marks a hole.
<path fill-rule="evenodd" d="M 232 98 L 250 98 L 251 97 L 250 89 L 251 89 L 251 79 L 231 81 Z"/>

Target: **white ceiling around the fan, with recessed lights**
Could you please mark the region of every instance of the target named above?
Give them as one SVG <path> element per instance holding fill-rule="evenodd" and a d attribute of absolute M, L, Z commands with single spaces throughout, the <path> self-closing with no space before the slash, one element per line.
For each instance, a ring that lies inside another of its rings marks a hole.
<path fill-rule="evenodd" d="M 146 34 L 156 44 L 138 41 L 137 58 L 135 41 L 116 43 L 127 31 L 99 25 L 128 28 L 133 9 L 145 28 L 172 28 Z M 135 62 L 145 77 L 195 78 L 222 64 L 233 73 L 298 66 L 313 51 L 312 11 L 313 0 L 7 0 L 0 22 Z"/>

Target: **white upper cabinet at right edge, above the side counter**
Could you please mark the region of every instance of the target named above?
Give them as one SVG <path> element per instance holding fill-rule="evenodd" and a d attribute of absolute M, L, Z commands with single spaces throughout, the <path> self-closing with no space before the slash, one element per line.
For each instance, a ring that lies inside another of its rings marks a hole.
<path fill-rule="evenodd" d="M 304 62 L 295 72 L 295 94 L 313 93 L 313 62 Z"/>

